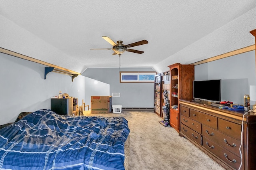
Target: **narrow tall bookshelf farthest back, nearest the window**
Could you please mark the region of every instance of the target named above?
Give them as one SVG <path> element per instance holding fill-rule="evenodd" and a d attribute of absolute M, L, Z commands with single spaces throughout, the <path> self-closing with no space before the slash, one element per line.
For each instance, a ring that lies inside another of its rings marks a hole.
<path fill-rule="evenodd" d="M 162 99 L 161 99 L 161 91 L 162 91 L 162 77 L 161 74 L 155 75 L 155 82 L 154 82 L 154 112 L 158 116 L 162 116 Z"/>

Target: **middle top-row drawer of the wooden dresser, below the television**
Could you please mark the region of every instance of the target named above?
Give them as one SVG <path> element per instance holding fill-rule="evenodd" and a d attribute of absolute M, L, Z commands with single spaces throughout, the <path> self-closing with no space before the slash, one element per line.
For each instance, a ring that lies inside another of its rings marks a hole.
<path fill-rule="evenodd" d="M 190 109 L 190 118 L 207 125 L 208 127 L 217 129 L 217 117 Z"/>

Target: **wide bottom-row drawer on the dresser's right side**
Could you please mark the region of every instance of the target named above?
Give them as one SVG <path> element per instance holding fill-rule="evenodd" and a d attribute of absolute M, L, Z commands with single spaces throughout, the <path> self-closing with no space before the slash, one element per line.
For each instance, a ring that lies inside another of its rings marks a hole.
<path fill-rule="evenodd" d="M 226 164 L 232 166 L 235 169 L 238 169 L 241 163 L 240 156 L 237 156 L 233 154 L 232 152 L 229 152 L 225 148 L 222 148 L 220 145 L 216 144 L 212 140 L 206 138 L 203 136 L 202 140 L 204 148 L 215 154 L 225 162 Z"/>

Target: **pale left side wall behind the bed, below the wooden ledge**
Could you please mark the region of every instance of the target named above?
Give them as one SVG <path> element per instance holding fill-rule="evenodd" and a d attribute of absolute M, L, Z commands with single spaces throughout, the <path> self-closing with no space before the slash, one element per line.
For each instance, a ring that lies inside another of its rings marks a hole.
<path fill-rule="evenodd" d="M 13 122 L 20 112 L 50 109 L 50 97 L 68 93 L 85 99 L 85 77 L 48 73 L 44 79 L 44 67 L 18 57 L 0 53 L 0 125 Z M 78 92 L 79 91 L 79 92 Z"/>

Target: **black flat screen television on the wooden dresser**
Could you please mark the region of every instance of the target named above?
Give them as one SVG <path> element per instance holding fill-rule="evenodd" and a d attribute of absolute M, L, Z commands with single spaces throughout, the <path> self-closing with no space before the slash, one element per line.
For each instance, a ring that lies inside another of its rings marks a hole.
<path fill-rule="evenodd" d="M 220 101 L 221 79 L 194 80 L 193 98 L 208 101 Z"/>

